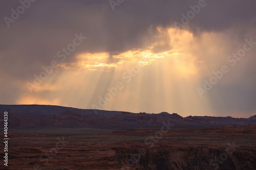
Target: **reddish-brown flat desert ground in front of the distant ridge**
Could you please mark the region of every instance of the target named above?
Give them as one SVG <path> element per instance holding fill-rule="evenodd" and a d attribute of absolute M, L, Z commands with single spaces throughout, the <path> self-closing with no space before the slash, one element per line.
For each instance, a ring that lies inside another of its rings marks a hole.
<path fill-rule="evenodd" d="M 256 169 L 256 125 L 172 126 L 11 129 L 2 169 Z"/>

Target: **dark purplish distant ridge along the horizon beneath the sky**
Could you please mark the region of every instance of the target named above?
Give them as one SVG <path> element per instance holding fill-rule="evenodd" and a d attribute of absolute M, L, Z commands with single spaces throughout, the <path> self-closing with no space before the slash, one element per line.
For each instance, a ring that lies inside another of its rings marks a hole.
<path fill-rule="evenodd" d="M 159 128 L 163 122 L 173 128 L 210 128 L 218 126 L 255 125 L 256 115 L 249 118 L 187 116 L 177 113 L 131 113 L 77 109 L 52 105 L 0 105 L 8 112 L 10 128 L 87 127 L 98 129 Z M 2 114 L 3 115 L 3 114 Z M 3 117 L 1 117 L 3 119 Z"/>

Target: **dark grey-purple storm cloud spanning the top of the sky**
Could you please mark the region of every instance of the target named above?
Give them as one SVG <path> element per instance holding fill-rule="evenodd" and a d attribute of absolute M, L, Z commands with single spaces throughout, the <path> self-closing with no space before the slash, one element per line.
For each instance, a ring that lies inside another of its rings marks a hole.
<path fill-rule="evenodd" d="M 118 53 L 144 48 L 156 40 L 156 27 L 181 22 L 190 5 L 198 1 L 125 1 L 115 11 L 108 1 L 35 1 L 10 28 L 1 20 L 1 69 L 27 77 L 56 59 L 56 53 L 72 42 L 74 34 L 88 39 L 66 62 L 80 52 Z M 1 1 L 0 16 L 11 16 L 18 1 Z M 250 25 L 255 1 L 206 1 L 188 26 L 194 32 L 221 31 L 233 25 Z M 148 29 L 152 27 L 151 32 Z M 156 50 L 157 52 L 157 50 Z M 12 69 L 8 69 L 12 65 Z M 29 67 L 24 67 L 29 65 Z M 22 68 L 22 69 L 21 69 Z"/>

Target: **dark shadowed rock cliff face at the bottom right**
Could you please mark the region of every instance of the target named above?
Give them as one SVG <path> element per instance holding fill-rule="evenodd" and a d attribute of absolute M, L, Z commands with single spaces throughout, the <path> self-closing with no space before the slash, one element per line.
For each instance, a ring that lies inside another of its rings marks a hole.
<path fill-rule="evenodd" d="M 114 148 L 123 168 L 187 170 L 187 169 L 255 169 L 256 149 L 237 148 L 226 154 L 225 148 L 185 147 L 176 148 L 160 143 L 147 149 L 145 155 L 136 155 L 135 150 Z M 134 157 L 133 157 L 134 156 Z M 136 157 L 137 156 L 137 157 Z M 125 162 L 125 163 L 124 163 Z"/>

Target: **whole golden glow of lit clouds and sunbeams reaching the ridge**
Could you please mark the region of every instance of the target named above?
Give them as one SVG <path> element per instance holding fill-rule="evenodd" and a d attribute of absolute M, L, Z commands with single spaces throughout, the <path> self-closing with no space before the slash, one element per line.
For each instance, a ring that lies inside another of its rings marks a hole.
<path fill-rule="evenodd" d="M 122 110 L 124 108 L 132 112 L 172 110 L 179 111 L 183 116 L 191 113 L 214 115 L 207 96 L 202 101 L 195 89 L 199 86 L 197 82 L 200 79 L 211 75 L 211 69 L 204 65 L 209 62 L 208 60 L 215 60 L 216 66 L 210 65 L 212 69 L 224 62 L 228 51 L 220 45 L 227 45 L 228 39 L 224 34 L 217 33 L 194 36 L 189 31 L 176 28 L 157 27 L 157 30 L 157 41 L 144 50 L 133 49 L 112 55 L 111 58 L 110 53 L 106 52 L 78 54 L 75 62 L 60 64 L 65 71 L 56 75 L 58 81 L 53 83 L 55 88 L 53 86 L 50 88 L 50 84 L 47 85 L 50 82 L 46 82 L 46 85 L 35 90 L 33 96 L 23 95 L 17 103 L 22 101 L 27 104 L 33 101 L 38 104 L 69 105 L 72 103 L 71 106 L 78 108 L 85 106 L 90 108 L 93 103 L 98 103 L 100 97 L 104 98 L 108 88 L 115 87 L 116 83 L 121 81 L 124 88 L 102 109 Z M 206 58 L 206 56 L 212 58 Z M 145 67 L 132 77 L 131 82 L 125 84 L 122 74 L 138 63 Z M 63 91 L 68 90 L 65 92 L 66 95 L 59 94 L 62 90 L 56 87 L 61 87 Z M 51 96 L 49 89 L 61 97 L 49 98 L 48 95 Z M 70 93 L 69 90 L 73 92 Z M 44 98 L 41 98 L 41 95 L 37 96 L 36 91 L 44 92 Z M 129 107 L 131 105 L 133 107 Z"/>

